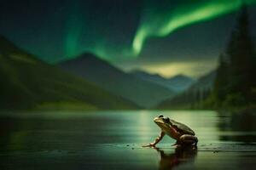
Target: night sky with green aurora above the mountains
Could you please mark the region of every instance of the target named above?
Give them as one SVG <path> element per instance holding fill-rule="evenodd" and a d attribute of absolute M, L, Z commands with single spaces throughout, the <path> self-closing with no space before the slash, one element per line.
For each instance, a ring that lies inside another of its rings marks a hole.
<path fill-rule="evenodd" d="M 1 0 L 0 34 L 49 63 L 84 52 L 124 71 L 199 77 L 217 65 L 241 0 Z M 256 39 L 256 0 L 249 6 Z"/>

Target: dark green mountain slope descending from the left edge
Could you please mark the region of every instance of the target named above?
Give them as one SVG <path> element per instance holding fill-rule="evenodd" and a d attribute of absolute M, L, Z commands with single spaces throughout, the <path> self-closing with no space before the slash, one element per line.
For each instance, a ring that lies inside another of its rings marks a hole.
<path fill-rule="evenodd" d="M 0 36 L 0 109 L 135 109 L 81 77 L 37 59 Z"/>

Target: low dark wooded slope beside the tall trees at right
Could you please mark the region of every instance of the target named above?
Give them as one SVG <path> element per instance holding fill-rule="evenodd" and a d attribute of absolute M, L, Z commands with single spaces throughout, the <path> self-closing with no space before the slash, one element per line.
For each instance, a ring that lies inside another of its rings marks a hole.
<path fill-rule="evenodd" d="M 158 109 L 193 109 L 195 105 L 207 99 L 213 87 L 216 71 L 211 71 L 207 75 L 199 78 L 182 94 L 178 94 L 172 99 L 166 99 L 157 106 Z"/>

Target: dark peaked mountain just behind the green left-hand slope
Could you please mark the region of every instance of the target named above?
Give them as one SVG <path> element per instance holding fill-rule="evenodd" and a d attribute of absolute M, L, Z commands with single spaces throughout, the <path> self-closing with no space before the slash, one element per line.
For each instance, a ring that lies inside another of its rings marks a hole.
<path fill-rule="evenodd" d="M 153 107 L 174 95 L 172 90 L 133 77 L 94 54 L 82 54 L 75 59 L 59 63 L 59 66 L 142 107 Z"/>

